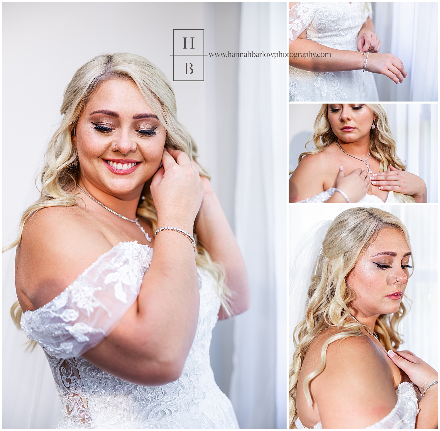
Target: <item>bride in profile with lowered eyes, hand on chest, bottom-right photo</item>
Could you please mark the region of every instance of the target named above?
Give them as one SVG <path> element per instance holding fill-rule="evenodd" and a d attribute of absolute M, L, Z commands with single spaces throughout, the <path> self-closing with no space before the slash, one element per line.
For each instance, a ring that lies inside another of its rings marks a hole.
<path fill-rule="evenodd" d="M 327 227 L 323 242 L 315 237 L 309 246 L 317 256 L 309 277 L 293 268 L 291 288 L 303 283 L 307 305 L 294 330 L 290 428 L 298 418 L 307 428 L 436 428 L 437 372 L 397 351 L 412 268 L 407 229 L 386 211 L 362 207 L 317 236 Z"/>

